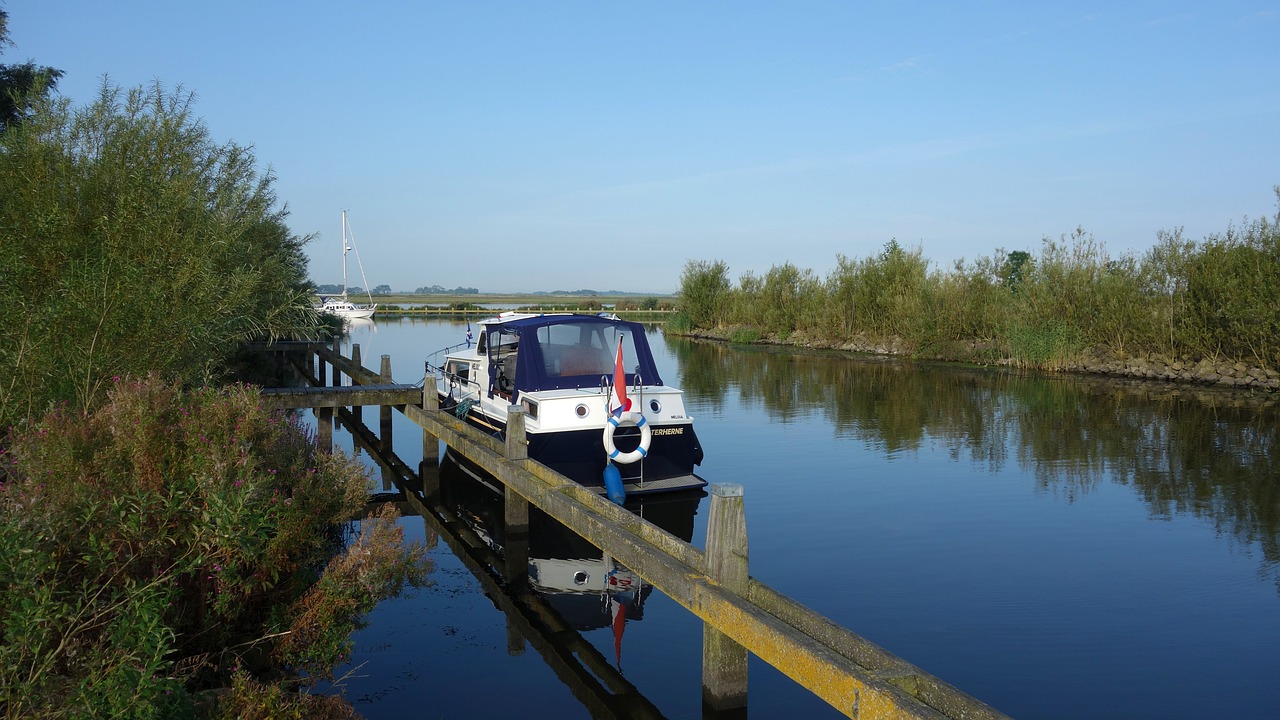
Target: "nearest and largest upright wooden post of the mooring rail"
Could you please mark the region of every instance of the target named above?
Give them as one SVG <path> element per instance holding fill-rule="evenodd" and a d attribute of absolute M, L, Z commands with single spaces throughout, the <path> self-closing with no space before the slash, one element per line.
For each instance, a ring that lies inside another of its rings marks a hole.
<path fill-rule="evenodd" d="M 746 597 L 746 515 L 742 486 L 712 486 L 707 518 L 707 575 Z M 703 625 L 703 705 L 716 712 L 746 707 L 746 648 L 712 625 Z"/>

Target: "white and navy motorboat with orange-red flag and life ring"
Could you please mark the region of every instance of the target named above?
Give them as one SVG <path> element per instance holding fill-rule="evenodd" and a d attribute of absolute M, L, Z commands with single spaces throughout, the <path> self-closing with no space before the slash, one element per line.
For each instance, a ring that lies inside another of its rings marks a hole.
<path fill-rule="evenodd" d="M 438 351 L 443 410 L 506 437 L 524 414 L 529 457 L 621 501 L 707 486 L 684 393 L 663 383 L 644 325 L 613 314 L 502 313 Z"/>

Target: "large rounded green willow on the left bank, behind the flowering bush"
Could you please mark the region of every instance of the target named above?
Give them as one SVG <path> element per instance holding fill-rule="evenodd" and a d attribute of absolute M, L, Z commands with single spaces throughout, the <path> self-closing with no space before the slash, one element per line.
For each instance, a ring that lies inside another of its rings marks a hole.
<path fill-rule="evenodd" d="M 192 102 L 104 82 L 0 135 L 0 434 L 55 402 L 91 407 L 116 377 L 209 382 L 243 341 L 314 327 L 308 238 L 270 170 Z"/>

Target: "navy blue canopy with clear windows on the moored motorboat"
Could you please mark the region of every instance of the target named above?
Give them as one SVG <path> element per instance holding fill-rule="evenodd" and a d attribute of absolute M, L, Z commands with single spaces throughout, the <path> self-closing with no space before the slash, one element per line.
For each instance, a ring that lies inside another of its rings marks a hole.
<path fill-rule="evenodd" d="M 618 340 L 627 386 L 662 384 L 644 325 L 596 315 L 538 315 L 485 325 L 486 352 L 499 389 L 599 387 L 613 380 Z M 512 384 L 506 384 L 506 383 Z"/>

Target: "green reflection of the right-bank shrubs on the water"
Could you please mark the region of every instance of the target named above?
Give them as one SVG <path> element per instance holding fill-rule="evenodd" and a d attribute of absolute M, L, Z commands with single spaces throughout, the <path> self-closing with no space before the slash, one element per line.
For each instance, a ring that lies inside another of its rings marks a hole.
<path fill-rule="evenodd" d="M 941 445 L 993 473 L 1014 461 L 1069 501 L 1107 480 L 1132 486 L 1153 516 L 1203 518 L 1257 543 L 1280 589 L 1274 396 L 667 342 L 703 407 L 723 410 L 732 392 L 772 421 L 819 416 L 887 454 Z"/>

